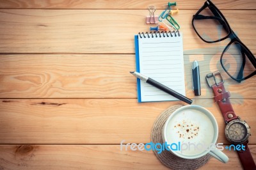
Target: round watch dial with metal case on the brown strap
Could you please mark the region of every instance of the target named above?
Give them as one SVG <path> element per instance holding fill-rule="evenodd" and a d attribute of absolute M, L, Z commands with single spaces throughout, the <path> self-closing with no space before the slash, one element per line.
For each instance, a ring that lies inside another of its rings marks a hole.
<path fill-rule="evenodd" d="M 232 120 L 227 124 L 225 134 L 231 143 L 242 144 L 248 140 L 250 127 L 245 121 Z"/>

